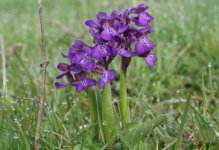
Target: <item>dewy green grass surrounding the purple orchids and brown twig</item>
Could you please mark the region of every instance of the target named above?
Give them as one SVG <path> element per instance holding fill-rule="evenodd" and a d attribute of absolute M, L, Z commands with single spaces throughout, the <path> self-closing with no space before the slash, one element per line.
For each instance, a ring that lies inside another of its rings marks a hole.
<path fill-rule="evenodd" d="M 155 17 L 152 39 L 156 43 L 158 63 L 154 69 L 149 69 L 142 59 L 135 58 L 128 68 L 131 119 L 153 118 L 165 113 L 167 122 L 144 138 L 138 148 L 217 149 L 219 2 L 146 2 Z M 59 74 L 55 67 L 63 61 L 60 53 L 66 53 L 73 40 L 81 38 L 92 43 L 83 25 L 86 19 L 95 18 L 100 10 L 122 10 L 137 3 L 138 0 L 44 1 L 50 64 L 41 149 L 77 149 L 78 144 L 83 145 L 83 149 L 104 149 L 104 144 L 91 143 L 86 95 L 77 95 L 72 88 L 55 89 L 55 76 Z M 33 149 L 40 81 L 37 1 L 1 0 L 0 18 L 8 81 L 6 97 L 3 89 L 0 92 L 0 149 Z M 119 72 L 117 62 L 112 67 Z M 3 80 L 2 76 L 0 80 Z M 114 81 L 112 87 L 116 100 L 119 82 Z M 191 100 L 190 107 L 186 109 L 188 99 Z"/>

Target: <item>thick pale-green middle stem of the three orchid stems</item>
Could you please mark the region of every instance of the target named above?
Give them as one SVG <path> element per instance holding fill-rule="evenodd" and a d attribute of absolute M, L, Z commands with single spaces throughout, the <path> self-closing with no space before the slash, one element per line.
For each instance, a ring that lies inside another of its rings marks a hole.
<path fill-rule="evenodd" d="M 102 97 L 102 127 L 105 142 L 110 144 L 115 135 L 115 116 L 113 111 L 113 102 L 111 86 L 107 84 Z"/>

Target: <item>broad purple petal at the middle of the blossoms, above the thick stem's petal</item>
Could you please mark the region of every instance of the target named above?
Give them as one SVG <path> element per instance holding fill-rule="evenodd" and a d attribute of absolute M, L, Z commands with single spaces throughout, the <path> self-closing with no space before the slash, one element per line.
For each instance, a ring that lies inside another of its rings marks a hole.
<path fill-rule="evenodd" d="M 97 60 L 102 60 L 103 57 L 109 56 L 111 53 L 111 47 L 109 45 L 100 45 L 95 46 L 91 52 L 91 56 Z"/>

